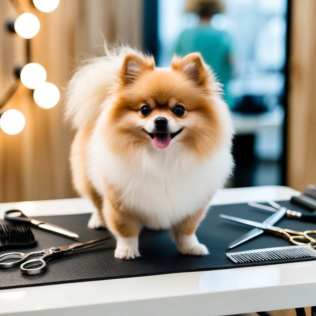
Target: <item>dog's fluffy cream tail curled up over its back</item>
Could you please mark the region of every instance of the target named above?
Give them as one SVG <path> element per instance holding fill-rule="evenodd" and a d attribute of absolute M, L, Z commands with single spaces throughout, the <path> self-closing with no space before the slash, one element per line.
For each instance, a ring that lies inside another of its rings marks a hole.
<path fill-rule="evenodd" d="M 94 125 L 124 56 L 130 52 L 139 53 L 127 46 L 111 50 L 105 46 L 106 56 L 86 60 L 76 70 L 66 88 L 64 111 L 65 119 L 74 128 L 86 129 Z"/>

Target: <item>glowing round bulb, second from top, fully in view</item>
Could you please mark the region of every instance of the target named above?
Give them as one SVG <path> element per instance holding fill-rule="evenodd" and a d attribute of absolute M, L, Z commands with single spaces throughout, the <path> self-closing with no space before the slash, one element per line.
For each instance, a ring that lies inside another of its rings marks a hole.
<path fill-rule="evenodd" d="M 22 13 L 14 22 L 15 32 L 25 39 L 34 37 L 40 30 L 40 20 L 33 13 Z"/>

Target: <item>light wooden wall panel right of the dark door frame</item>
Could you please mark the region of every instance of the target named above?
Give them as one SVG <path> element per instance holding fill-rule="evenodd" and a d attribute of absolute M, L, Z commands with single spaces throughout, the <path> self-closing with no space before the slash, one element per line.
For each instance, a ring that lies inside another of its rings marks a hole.
<path fill-rule="evenodd" d="M 316 184 L 316 1 L 292 3 L 287 174 L 304 191 Z"/>

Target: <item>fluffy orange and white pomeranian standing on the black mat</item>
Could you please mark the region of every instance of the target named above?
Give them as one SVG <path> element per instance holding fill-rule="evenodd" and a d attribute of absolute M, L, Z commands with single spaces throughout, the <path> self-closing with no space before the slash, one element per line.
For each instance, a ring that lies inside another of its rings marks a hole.
<path fill-rule="evenodd" d="M 115 236 L 116 258 L 140 256 L 144 225 L 170 229 L 182 254 L 209 253 L 195 232 L 232 172 L 233 126 L 199 53 L 157 68 L 129 47 L 106 48 L 70 80 L 65 114 L 77 130 L 73 185 L 95 206 L 88 227 Z"/>

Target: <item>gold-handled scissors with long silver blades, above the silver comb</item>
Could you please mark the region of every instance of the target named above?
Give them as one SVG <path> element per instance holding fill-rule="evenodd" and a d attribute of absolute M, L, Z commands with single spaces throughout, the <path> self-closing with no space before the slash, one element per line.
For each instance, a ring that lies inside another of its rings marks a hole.
<path fill-rule="evenodd" d="M 310 234 L 316 234 L 316 230 L 305 230 L 303 232 L 299 232 L 292 229 L 266 225 L 264 223 L 254 222 L 254 221 L 250 221 L 247 219 L 234 217 L 234 216 L 229 216 L 229 215 L 224 215 L 224 214 L 219 214 L 219 216 L 222 218 L 228 219 L 230 221 L 239 222 L 242 224 L 246 224 L 248 226 L 264 229 L 265 231 L 274 233 L 278 236 L 284 236 L 288 238 L 290 242 L 292 242 L 295 245 L 311 245 L 313 248 L 316 247 L 316 240 L 313 237 L 309 236 Z M 301 240 L 301 242 L 298 240 Z"/>

